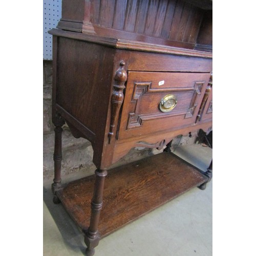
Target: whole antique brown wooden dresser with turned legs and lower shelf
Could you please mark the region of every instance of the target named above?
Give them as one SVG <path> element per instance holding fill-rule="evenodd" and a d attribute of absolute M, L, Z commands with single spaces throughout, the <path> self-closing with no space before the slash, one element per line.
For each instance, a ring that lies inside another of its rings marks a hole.
<path fill-rule="evenodd" d="M 62 18 L 49 33 L 54 202 L 82 229 L 86 253 L 93 255 L 100 238 L 192 187 L 204 189 L 211 178 L 212 165 L 203 173 L 170 152 L 170 142 L 212 130 L 212 5 L 62 0 Z M 63 186 L 65 122 L 74 137 L 92 143 L 97 169 Z M 136 146 L 164 151 L 110 169 Z"/>

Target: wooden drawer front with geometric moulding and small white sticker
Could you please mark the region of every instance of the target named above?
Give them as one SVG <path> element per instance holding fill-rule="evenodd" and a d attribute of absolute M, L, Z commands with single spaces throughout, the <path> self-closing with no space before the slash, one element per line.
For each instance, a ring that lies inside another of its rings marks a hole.
<path fill-rule="evenodd" d="M 172 131 L 194 125 L 210 73 L 130 71 L 118 139 Z M 162 112 L 166 95 L 177 99 L 175 108 Z"/>

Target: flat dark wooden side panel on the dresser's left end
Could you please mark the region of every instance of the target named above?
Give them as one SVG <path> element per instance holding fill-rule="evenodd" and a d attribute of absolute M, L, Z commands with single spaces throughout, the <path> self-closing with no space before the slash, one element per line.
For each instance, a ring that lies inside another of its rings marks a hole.
<path fill-rule="evenodd" d="M 58 39 L 56 103 L 96 136 L 102 137 L 115 50 L 86 41 Z"/>

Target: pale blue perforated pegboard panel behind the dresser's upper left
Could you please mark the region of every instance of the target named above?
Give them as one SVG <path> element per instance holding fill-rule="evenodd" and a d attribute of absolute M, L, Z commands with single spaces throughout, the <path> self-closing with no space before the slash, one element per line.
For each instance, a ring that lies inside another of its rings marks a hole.
<path fill-rule="evenodd" d="M 52 60 L 52 35 L 49 30 L 56 28 L 61 18 L 61 0 L 44 0 L 44 59 Z"/>

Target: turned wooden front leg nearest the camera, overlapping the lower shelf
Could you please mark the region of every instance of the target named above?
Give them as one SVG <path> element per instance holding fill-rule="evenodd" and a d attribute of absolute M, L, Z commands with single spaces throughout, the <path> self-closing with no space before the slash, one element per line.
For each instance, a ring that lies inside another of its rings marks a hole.
<path fill-rule="evenodd" d="M 94 193 L 91 202 L 91 220 L 88 230 L 85 232 L 84 242 L 87 245 L 86 255 L 94 255 L 94 248 L 99 244 L 98 224 L 100 210 L 102 208 L 104 180 L 108 172 L 106 170 L 96 169 L 96 181 L 94 185 Z"/>

